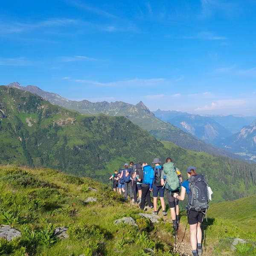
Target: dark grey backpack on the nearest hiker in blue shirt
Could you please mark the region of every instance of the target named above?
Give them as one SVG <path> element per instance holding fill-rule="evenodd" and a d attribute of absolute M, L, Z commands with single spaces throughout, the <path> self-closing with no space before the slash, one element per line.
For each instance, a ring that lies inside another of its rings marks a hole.
<path fill-rule="evenodd" d="M 189 202 L 187 204 L 188 212 L 190 210 L 205 213 L 209 208 L 208 184 L 204 175 L 192 175 L 189 177 Z"/>

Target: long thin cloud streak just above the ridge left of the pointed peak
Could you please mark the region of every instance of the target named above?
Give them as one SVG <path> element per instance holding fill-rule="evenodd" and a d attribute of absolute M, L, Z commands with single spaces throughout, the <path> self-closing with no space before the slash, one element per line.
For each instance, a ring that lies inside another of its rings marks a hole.
<path fill-rule="evenodd" d="M 131 79 L 124 81 L 116 81 L 111 83 L 101 83 L 98 81 L 90 81 L 84 79 L 76 79 L 78 83 L 91 84 L 96 86 L 104 86 L 104 87 L 141 87 L 141 86 L 160 86 L 161 84 L 166 84 L 167 81 L 163 78 L 156 79 Z"/>

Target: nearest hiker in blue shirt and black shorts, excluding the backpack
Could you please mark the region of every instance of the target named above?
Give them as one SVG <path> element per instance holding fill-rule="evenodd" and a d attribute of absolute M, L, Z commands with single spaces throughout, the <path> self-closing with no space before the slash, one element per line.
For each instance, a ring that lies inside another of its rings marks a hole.
<path fill-rule="evenodd" d="M 196 175 L 196 168 L 194 166 L 189 166 L 187 169 L 188 178 Z M 185 180 L 181 184 L 180 195 L 177 193 L 174 194 L 174 197 L 178 200 L 183 201 L 185 195 L 189 194 L 189 181 Z M 204 220 L 204 212 L 196 212 L 192 209 L 188 212 L 188 223 L 190 227 L 190 243 L 192 247 L 193 256 L 202 255 L 202 230 L 201 223 Z"/>

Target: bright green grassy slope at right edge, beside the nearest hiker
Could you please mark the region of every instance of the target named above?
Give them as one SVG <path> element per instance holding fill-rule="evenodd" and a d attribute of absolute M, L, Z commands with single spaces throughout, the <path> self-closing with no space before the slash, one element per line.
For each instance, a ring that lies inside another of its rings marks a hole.
<path fill-rule="evenodd" d="M 209 208 L 211 218 L 219 218 L 243 230 L 256 232 L 256 195 L 235 201 L 214 204 Z"/>

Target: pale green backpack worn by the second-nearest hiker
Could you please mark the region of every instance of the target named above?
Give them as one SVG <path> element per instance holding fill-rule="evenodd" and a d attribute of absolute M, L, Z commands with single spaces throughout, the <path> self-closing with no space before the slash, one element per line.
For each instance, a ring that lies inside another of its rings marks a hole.
<path fill-rule="evenodd" d="M 169 162 L 163 164 L 163 172 L 166 175 L 165 185 L 166 183 L 168 185 L 166 189 L 169 189 L 170 192 L 180 190 L 180 179 L 177 175 L 174 163 Z"/>

